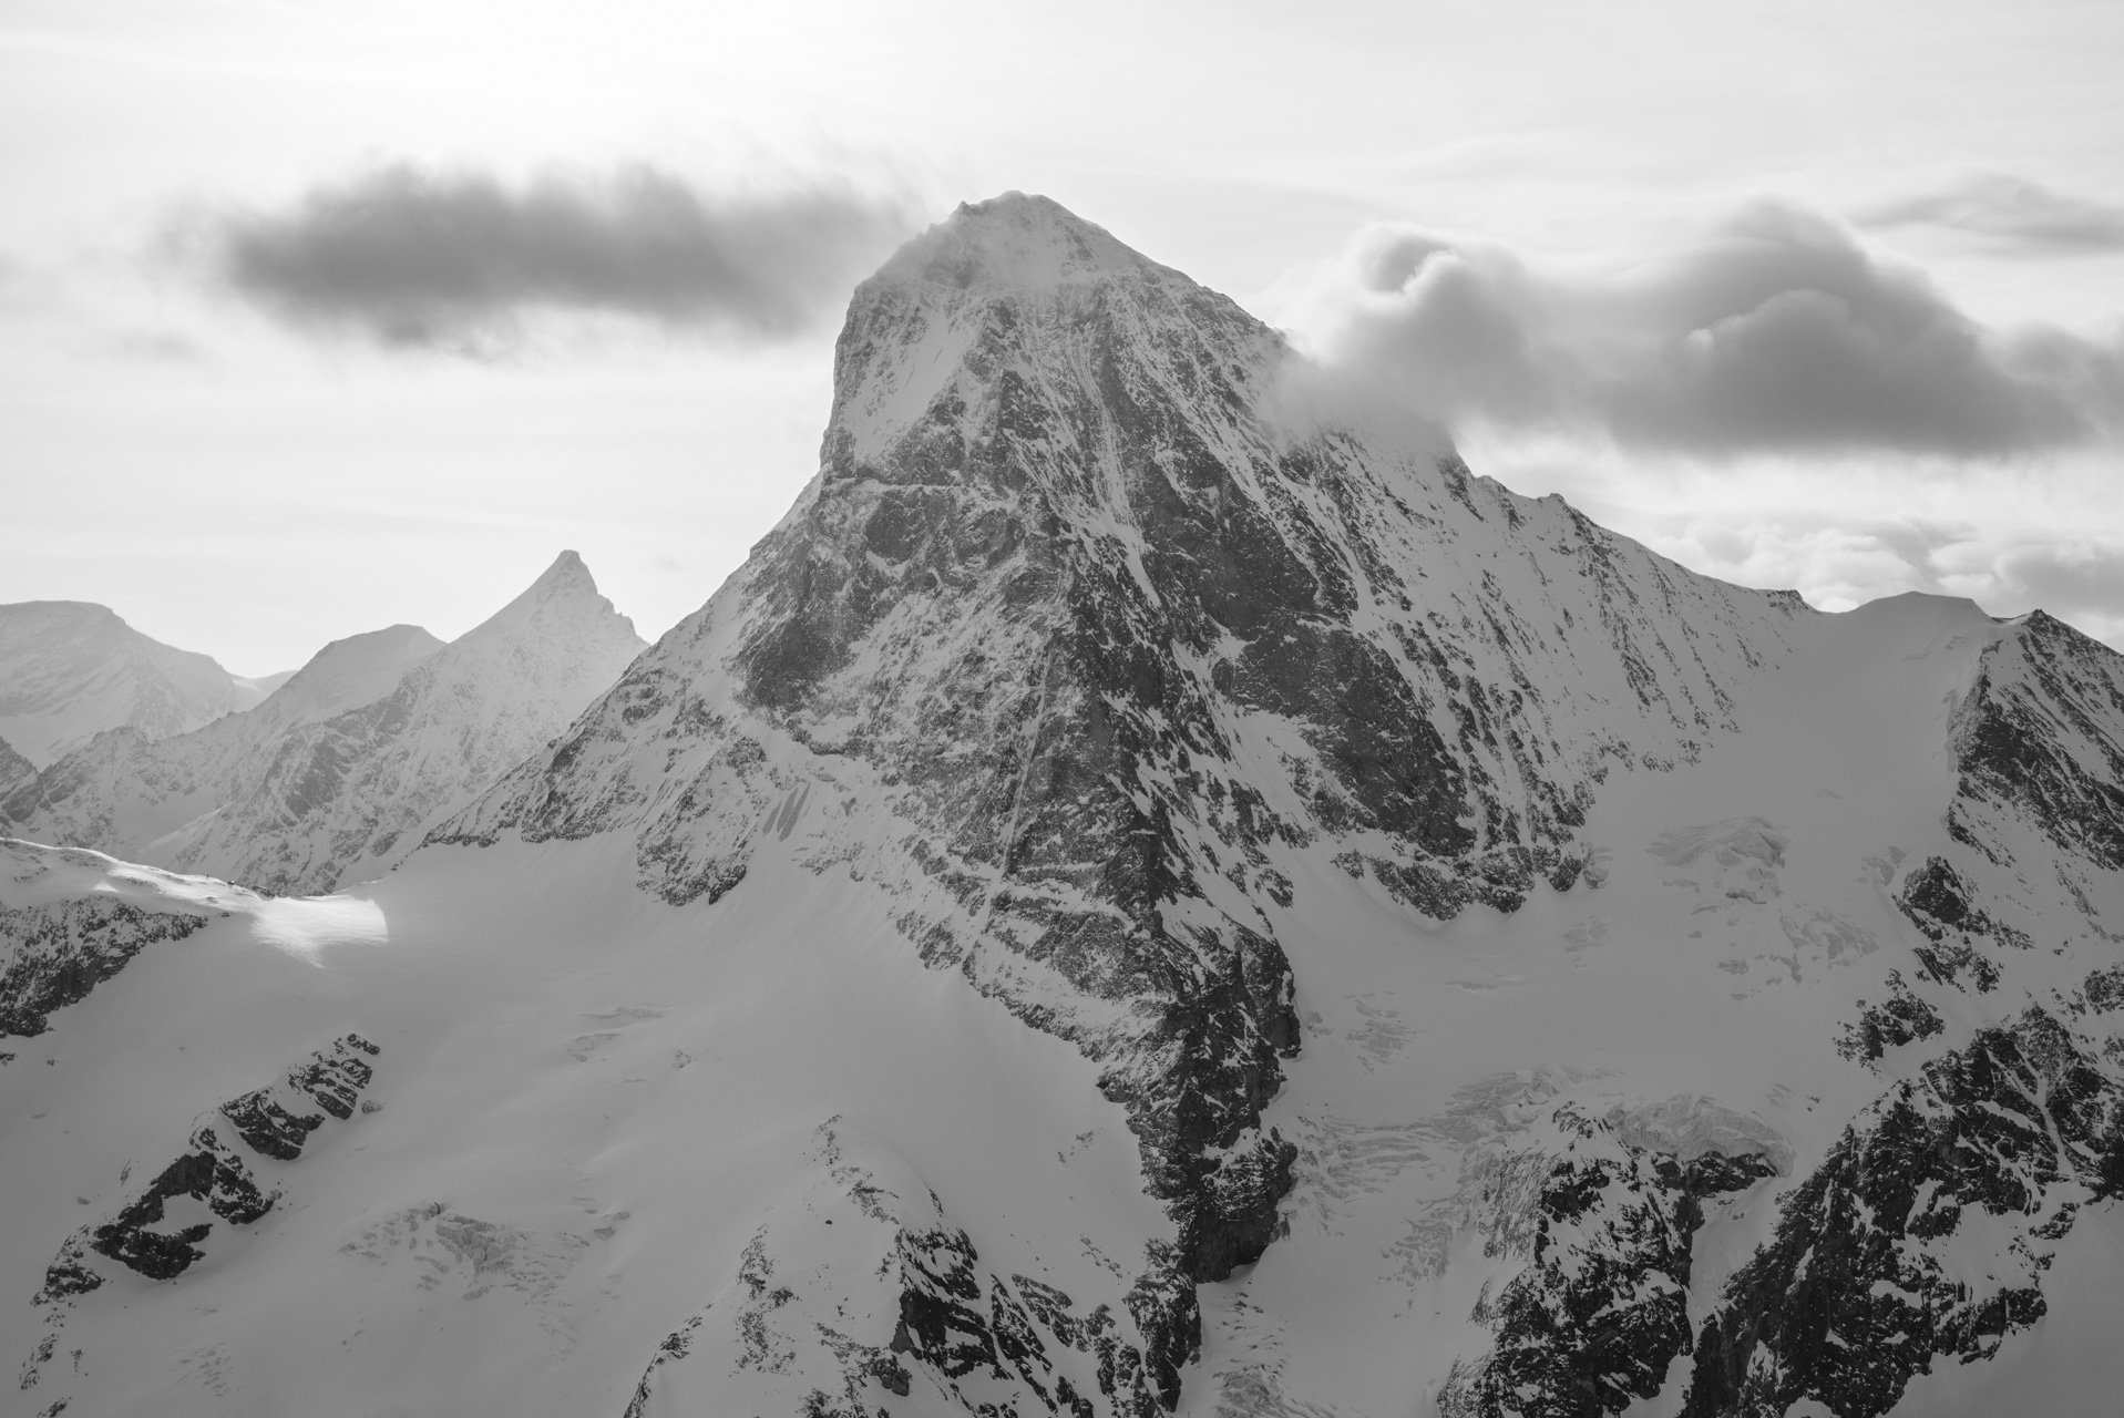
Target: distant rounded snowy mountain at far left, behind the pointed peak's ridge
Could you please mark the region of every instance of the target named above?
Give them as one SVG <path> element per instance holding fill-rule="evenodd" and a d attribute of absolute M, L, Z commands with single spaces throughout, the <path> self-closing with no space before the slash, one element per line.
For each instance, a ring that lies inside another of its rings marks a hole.
<path fill-rule="evenodd" d="M 140 635 L 102 605 L 0 605 L 0 739 L 38 766 L 106 728 L 187 732 L 259 703 L 259 686 Z"/>

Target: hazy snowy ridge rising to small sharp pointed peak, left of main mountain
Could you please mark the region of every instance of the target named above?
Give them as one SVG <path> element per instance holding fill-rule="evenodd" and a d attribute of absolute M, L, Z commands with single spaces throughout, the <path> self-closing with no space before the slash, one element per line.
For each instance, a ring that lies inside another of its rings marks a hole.
<path fill-rule="evenodd" d="M 446 647 L 418 626 L 333 641 L 249 713 L 176 739 L 100 734 L 0 796 L 0 819 L 263 892 L 365 881 L 565 728 L 637 650 L 563 552 Z"/>

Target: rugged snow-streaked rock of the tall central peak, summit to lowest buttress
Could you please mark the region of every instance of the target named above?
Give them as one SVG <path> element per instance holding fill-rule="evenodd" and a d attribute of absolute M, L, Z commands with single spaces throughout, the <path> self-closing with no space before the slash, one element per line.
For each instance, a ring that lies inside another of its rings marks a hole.
<path fill-rule="evenodd" d="M 1045 200 L 962 208 L 858 289 L 796 512 L 429 841 L 629 828 L 648 889 L 714 902 L 805 781 L 769 739 L 860 758 L 949 902 L 901 928 L 1107 1066 L 1181 1272 L 1228 1276 L 1296 1155 L 1260 1127 L 1298 1049 L 1270 849 L 1347 838 L 1432 917 L 1570 885 L 1593 785 L 1697 754 L 1731 724 L 1720 673 L 1803 613 L 1438 448 L 1285 433 L 1287 369 L 1274 331 Z M 1077 1025 L 996 949 L 1141 1027 Z"/>

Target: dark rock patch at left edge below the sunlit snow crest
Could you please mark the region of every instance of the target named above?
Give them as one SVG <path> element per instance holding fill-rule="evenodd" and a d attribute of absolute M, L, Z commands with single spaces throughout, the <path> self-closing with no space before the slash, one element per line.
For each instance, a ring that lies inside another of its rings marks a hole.
<path fill-rule="evenodd" d="M 51 1010 L 87 998 L 155 940 L 183 940 L 204 915 L 142 911 L 115 896 L 0 906 L 0 1038 L 42 1034 Z"/>

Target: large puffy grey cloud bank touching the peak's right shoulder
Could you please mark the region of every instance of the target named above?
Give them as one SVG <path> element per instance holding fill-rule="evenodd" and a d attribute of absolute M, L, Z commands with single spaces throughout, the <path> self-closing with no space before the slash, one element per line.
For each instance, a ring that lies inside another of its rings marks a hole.
<path fill-rule="evenodd" d="M 1990 329 L 1914 265 L 1774 202 L 1599 270 L 1370 227 L 1270 304 L 1330 371 L 1457 431 L 1997 459 L 2124 425 L 2118 344 Z"/>

